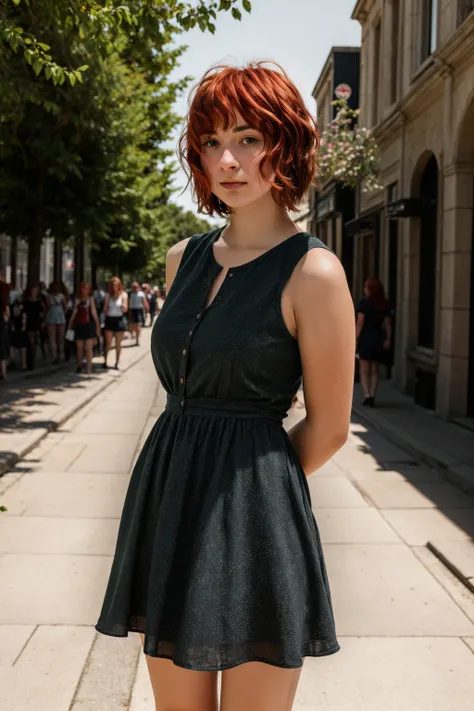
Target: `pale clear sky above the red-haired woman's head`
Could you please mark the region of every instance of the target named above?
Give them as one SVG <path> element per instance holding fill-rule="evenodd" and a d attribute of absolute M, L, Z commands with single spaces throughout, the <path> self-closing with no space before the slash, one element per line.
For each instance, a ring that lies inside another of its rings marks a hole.
<path fill-rule="evenodd" d="M 171 79 L 191 75 L 195 81 L 177 101 L 177 113 L 185 116 L 190 89 L 214 64 L 242 66 L 249 61 L 271 59 L 285 69 L 315 116 L 311 92 L 331 47 L 360 45 L 360 25 L 351 20 L 355 5 L 356 0 L 252 0 L 252 13 L 243 12 L 241 22 L 222 12 L 215 22 L 214 35 L 194 29 L 179 36 L 176 44 L 189 47 Z M 179 133 L 180 129 L 169 145 L 173 151 Z M 179 169 L 175 178 L 179 192 L 173 201 L 196 213 L 190 188 L 179 194 L 186 182 Z"/>

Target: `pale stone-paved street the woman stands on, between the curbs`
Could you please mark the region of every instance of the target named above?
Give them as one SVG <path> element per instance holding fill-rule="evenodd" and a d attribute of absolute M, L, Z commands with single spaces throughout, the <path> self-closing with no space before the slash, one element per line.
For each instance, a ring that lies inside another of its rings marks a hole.
<path fill-rule="evenodd" d="M 138 636 L 93 625 L 163 403 L 147 356 L 0 478 L 2 708 L 153 711 Z M 285 426 L 303 415 L 300 403 Z M 472 709 L 474 595 L 427 547 L 473 537 L 472 497 L 355 419 L 308 481 L 341 652 L 305 660 L 294 708 Z"/>

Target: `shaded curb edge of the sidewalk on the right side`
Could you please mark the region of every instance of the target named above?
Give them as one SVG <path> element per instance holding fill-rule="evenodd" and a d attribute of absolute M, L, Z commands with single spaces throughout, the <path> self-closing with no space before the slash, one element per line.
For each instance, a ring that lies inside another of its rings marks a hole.
<path fill-rule="evenodd" d="M 442 457 L 441 453 L 437 454 L 435 447 L 430 447 L 428 450 L 426 447 L 420 446 L 417 440 L 408 436 L 404 430 L 395 425 L 386 424 L 378 417 L 371 417 L 370 412 L 365 408 L 353 405 L 352 412 L 367 425 L 386 437 L 392 444 L 405 449 L 423 464 L 440 470 L 446 479 L 465 493 L 474 493 L 474 478 L 467 465 L 459 461 L 448 461 Z"/>

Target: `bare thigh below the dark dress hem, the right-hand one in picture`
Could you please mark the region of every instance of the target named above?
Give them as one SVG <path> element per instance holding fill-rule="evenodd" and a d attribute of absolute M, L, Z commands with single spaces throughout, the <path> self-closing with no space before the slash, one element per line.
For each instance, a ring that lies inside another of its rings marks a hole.
<path fill-rule="evenodd" d="M 222 672 L 220 711 L 290 711 L 302 667 L 246 662 Z"/>

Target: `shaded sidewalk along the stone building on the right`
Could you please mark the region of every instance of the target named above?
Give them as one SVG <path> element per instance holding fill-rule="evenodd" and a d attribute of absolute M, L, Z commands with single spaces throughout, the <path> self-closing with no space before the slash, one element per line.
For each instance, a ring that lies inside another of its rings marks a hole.
<path fill-rule="evenodd" d="M 375 408 L 363 407 L 362 400 L 356 385 L 352 410 L 361 420 L 459 488 L 474 492 L 474 432 L 418 407 L 387 380 L 380 382 Z"/>

